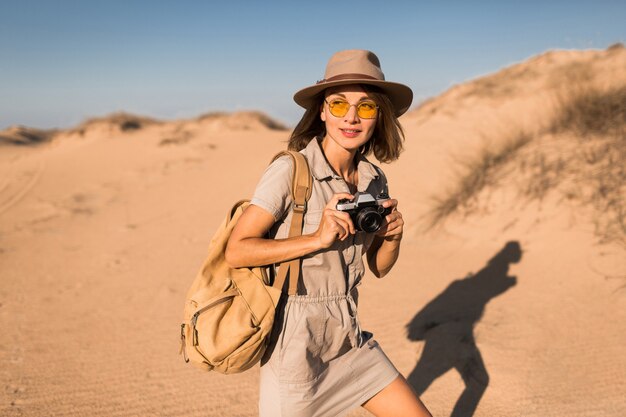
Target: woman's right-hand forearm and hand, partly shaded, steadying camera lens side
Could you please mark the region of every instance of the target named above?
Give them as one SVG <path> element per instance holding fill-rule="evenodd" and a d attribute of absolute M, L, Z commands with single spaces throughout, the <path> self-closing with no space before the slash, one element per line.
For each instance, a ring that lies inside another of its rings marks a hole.
<path fill-rule="evenodd" d="M 385 223 L 376 232 L 374 241 L 367 251 L 367 264 L 377 278 L 382 278 L 391 270 L 400 255 L 400 242 L 404 220 L 398 211 L 398 200 L 390 199 L 383 203 L 392 211 L 385 218 Z"/>

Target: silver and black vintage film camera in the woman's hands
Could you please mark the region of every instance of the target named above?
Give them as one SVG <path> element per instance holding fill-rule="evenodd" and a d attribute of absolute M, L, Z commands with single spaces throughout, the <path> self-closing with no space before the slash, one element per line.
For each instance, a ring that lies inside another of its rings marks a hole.
<path fill-rule="evenodd" d="M 356 230 L 373 233 L 380 229 L 385 216 L 391 213 L 391 208 L 382 206 L 387 200 L 389 196 L 385 193 L 374 197 L 370 193 L 359 192 L 354 195 L 353 200 L 339 200 L 337 210 L 345 211 L 350 215 Z"/>

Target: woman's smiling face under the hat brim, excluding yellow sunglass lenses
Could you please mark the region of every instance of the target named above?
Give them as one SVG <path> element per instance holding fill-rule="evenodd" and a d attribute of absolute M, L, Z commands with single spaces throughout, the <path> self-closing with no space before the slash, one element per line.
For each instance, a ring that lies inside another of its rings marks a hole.
<path fill-rule="evenodd" d="M 347 101 L 351 105 L 348 113 L 342 117 L 333 116 L 327 103 L 334 99 Z M 358 151 L 370 140 L 376 127 L 378 115 L 373 119 L 365 119 L 357 114 L 356 105 L 363 101 L 372 101 L 372 99 L 367 96 L 361 86 L 355 84 L 329 88 L 325 93 L 325 102 L 322 103 L 320 117 L 326 124 L 326 136 L 349 151 Z"/>

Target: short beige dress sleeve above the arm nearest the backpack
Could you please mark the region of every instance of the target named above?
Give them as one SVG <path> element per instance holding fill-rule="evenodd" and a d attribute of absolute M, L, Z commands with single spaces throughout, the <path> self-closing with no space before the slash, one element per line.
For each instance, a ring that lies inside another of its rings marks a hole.
<path fill-rule="evenodd" d="M 291 206 L 291 178 L 293 161 L 283 156 L 272 162 L 259 181 L 251 204 L 269 212 L 274 221 L 280 219 Z"/>

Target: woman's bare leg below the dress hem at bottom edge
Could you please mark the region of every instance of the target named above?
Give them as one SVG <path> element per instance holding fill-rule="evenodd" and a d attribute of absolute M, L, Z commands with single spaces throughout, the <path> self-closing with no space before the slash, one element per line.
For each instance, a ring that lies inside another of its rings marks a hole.
<path fill-rule="evenodd" d="M 402 375 L 363 404 L 376 417 L 432 417 Z"/>

